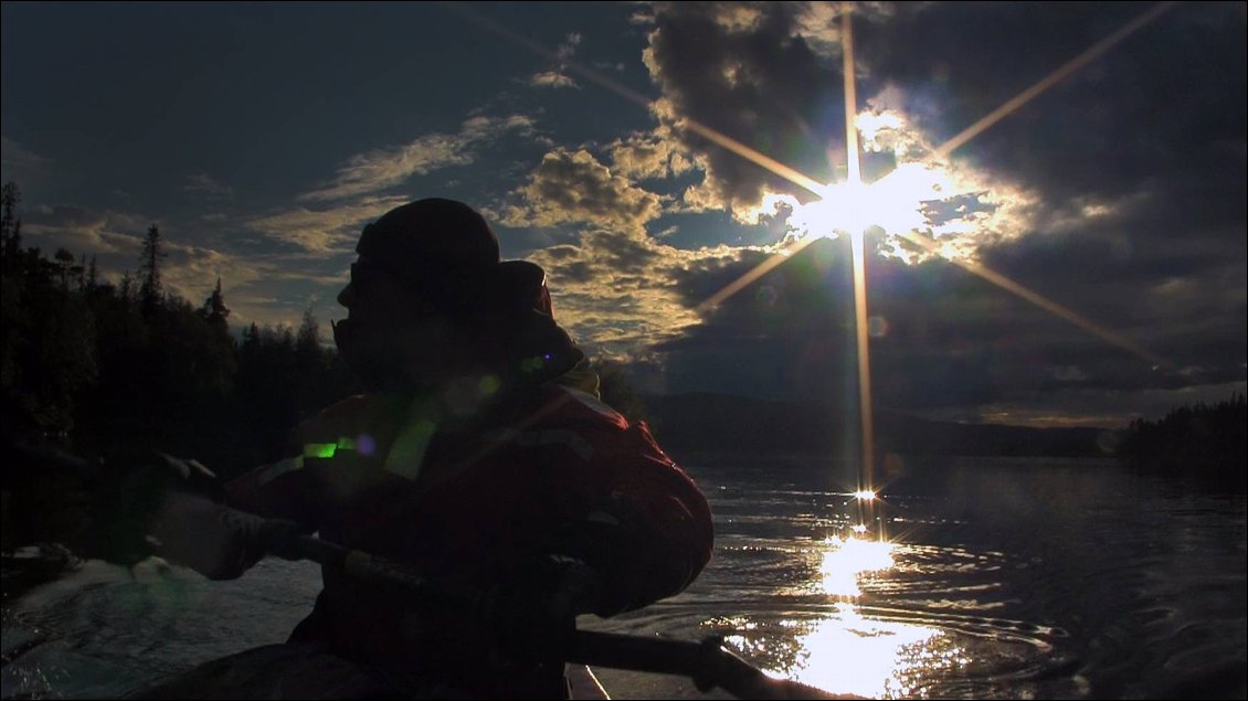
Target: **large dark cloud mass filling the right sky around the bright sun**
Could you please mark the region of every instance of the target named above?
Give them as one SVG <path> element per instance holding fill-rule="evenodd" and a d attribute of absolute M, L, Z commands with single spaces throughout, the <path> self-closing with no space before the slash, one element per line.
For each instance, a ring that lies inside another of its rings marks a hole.
<path fill-rule="evenodd" d="M 874 5 L 855 21 L 859 95 L 900 109 L 936 146 L 1151 7 Z M 780 135 L 824 153 L 842 142 L 841 120 L 826 112 L 841 89 L 836 25 L 802 5 L 659 5 L 650 67 L 673 120 L 698 118 L 781 160 Z M 985 201 L 996 218 L 973 247 L 978 262 L 1097 333 L 942 259 L 871 258 L 877 402 L 965 419 L 1030 407 L 1037 420 L 1112 424 L 1242 390 L 1246 45 L 1242 6 L 1178 4 L 956 151 L 960 167 L 1011 188 Z M 728 66 L 748 80 L 730 80 Z M 820 115 L 820 126 L 797 114 Z M 724 197 L 780 190 L 736 156 L 706 157 Z M 685 302 L 760 259 L 691 266 Z M 852 397 L 851 289 L 847 244 L 816 242 L 661 344 L 665 385 Z"/>

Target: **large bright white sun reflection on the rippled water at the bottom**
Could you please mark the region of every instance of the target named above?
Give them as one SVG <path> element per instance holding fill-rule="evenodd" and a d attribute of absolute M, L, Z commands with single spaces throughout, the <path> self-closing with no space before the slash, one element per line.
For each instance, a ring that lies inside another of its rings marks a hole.
<path fill-rule="evenodd" d="M 790 619 L 781 625 L 787 640 L 768 644 L 755 636 L 728 640 L 770 662 L 769 672 L 835 694 L 864 697 L 909 697 L 922 692 L 936 676 L 970 660 L 945 631 L 862 614 L 860 581 L 895 566 L 897 545 L 864 538 L 827 538 L 810 589 L 834 602 L 817 619 Z M 786 647 L 779 650 L 768 647 Z M 926 681 L 925 681 L 926 680 Z"/>

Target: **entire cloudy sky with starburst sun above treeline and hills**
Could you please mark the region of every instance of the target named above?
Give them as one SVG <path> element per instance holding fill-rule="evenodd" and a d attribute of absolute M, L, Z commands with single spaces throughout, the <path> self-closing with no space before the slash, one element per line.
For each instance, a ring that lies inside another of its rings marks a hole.
<path fill-rule="evenodd" d="M 1244 16 L 6 1 L 2 180 L 112 281 L 158 225 L 236 327 L 344 317 L 361 228 L 461 200 L 653 393 L 852 402 L 865 231 L 876 409 L 1117 428 L 1246 388 Z"/>

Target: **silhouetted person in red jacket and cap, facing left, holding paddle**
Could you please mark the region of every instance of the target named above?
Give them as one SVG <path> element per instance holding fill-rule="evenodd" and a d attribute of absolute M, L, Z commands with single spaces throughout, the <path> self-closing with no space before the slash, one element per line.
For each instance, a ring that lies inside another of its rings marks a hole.
<path fill-rule="evenodd" d="M 226 485 L 228 505 L 490 591 L 534 620 L 638 609 L 698 575 L 713 539 L 704 496 L 645 424 L 597 398 L 540 267 L 500 262 L 480 215 L 449 200 L 386 213 L 356 251 L 333 334 L 367 394 L 300 425 L 287 458 Z M 186 511 L 166 509 L 163 553 L 212 578 L 238 576 L 275 540 L 242 526 L 206 548 Z M 429 606 L 334 566 L 323 580 L 291 641 L 386 687 L 563 694 L 560 660 L 500 642 L 524 640 L 515 620 Z"/>

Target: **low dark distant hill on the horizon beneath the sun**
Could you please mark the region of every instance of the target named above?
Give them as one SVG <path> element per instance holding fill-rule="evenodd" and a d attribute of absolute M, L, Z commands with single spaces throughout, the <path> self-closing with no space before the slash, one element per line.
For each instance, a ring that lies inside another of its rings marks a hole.
<path fill-rule="evenodd" d="M 837 455 L 857 443 L 857 419 L 819 402 L 728 394 L 644 398 L 659 442 L 679 452 Z M 932 422 L 880 412 L 876 449 L 907 455 L 1106 457 L 1106 432 Z"/>

